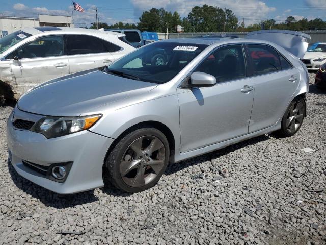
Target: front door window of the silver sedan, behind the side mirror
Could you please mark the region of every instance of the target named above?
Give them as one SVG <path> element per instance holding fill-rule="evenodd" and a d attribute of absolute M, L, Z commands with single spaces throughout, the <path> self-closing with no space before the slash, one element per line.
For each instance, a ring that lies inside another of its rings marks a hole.
<path fill-rule="evenodd" d="M 246 77 L 246 63 L 242 45 L 221 47 L 208 55 L 195 69 L 208 73 L 218 83 Z"/>

